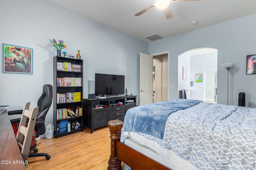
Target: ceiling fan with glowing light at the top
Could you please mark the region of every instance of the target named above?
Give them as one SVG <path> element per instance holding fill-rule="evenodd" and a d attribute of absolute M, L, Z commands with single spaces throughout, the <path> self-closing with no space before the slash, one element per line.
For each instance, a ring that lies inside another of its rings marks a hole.
<path fill-rule="evenodd" d="M 141 14 L 144 14 L 148 10 L 151 10 L 152 8 L 157 7 L 163 10 L 166 19 L 169 19 L 169 18 L 172 18 L 172 12 L 169 8 L 170 2 L 184 2 L 184 1 L 194 1 L 194 0 L 156 0 L 154 4 L 138 12 L 137 14 L 135 14 L 135 16 L 140 16 Z"/>

